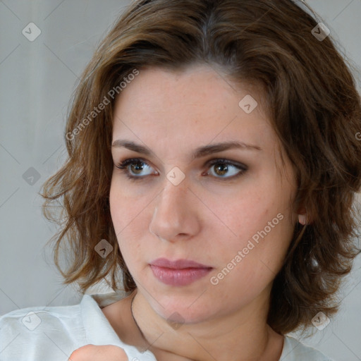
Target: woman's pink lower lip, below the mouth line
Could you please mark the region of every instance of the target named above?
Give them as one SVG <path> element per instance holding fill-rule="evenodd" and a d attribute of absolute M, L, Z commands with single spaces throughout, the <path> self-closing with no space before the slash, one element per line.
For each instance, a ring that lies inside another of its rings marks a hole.
<path fill-rule="evenodd" d="M 169 286 L 187 286 L 190 283 L 207 276 L 212 268 L 184 268 L 171 269 L 150 265 L 154 276 L 162 283 Z"/>

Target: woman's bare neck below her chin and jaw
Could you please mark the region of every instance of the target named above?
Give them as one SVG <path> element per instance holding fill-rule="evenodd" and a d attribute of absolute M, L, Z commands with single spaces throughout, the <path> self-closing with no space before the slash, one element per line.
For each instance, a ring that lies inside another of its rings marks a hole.
<path fill-rule="evenodd" d="M 132 314 L 145 349 L 157 360 L 279 360 L 283 336 L 265 321 L 268 305 L 260 306 L 197 324 L 177 324 L 160 317 L 135 290 Z"/>

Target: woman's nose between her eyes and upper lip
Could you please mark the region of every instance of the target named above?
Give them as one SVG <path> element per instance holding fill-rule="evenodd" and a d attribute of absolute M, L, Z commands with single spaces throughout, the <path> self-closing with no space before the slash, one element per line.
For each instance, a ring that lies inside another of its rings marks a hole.
<path fill-rule="evenodd" d="M 154 202 L 150 233 L 162 240 L 176 242 L 192 238 L 200 231 L 199 200 L 185 179 L 178 185 L 165 179 L 165 186 Z"/>

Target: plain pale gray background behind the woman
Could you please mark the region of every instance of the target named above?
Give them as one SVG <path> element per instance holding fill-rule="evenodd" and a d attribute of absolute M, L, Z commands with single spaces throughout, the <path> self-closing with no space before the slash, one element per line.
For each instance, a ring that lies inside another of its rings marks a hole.
<path fill-rule="evenodd" d="M 322 16 L 342 53 L 361 68 L 361 0 L 307 3 Z M 99 39 L 128 4 L 0 1 L 0 315 L 80 300 L 73 286 L 61 284 L 51 251 L 44 247 L 56 228 L 43 218 L 37 192 L 65 159 L 63 130 L 75 82 Z M 41 30 L 33 42 L 22 34 L 30 22 Z M 40 176 L 32 185 L 23 178 L 26 171 L 34 172 L 30 167 Z M 361 360 L 360 266 L 358 257 L 345 279 L 337 317 L 302 340 L 335 360 Z"/>

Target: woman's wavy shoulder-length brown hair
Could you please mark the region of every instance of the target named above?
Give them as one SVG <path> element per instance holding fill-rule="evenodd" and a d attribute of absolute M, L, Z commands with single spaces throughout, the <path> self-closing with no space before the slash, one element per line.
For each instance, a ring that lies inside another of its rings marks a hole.
<path fill-rule="evenodd" d="M 295 226 L 267 322 L 286 334 L 310 326 L 319 311 L 336 312 L 341 276 L 359 251 L 353 202 L 361 188 L 355 137 L 361 105 L 348 65 L 330 37 L 312 34 L 316 26 L 290 0 L 142 0 L 121 15 L 73 95 L 68 160 L 44 183 L 44 215 L 61 225 L 52 239 L 64 283 L 78 281 L 85 290 L 109 276 L 115 290 L 123 275 L 123 289 L 135 288 L 109 212 L 114 90 L 121 96 L 120 82 L 147 66 L 208 63 L 235 82 L 264 87 L 269 118 L 298 180 L 293 209 L 307 209 L 312 220 Z M 54 201 L 61 202 L 64 221 L 51 216 Z M 102 239 L 114 247 L 105 259 L 94 252 Z M 66 271 L 59 261 L 63 244 L 70 247 Z"/>

